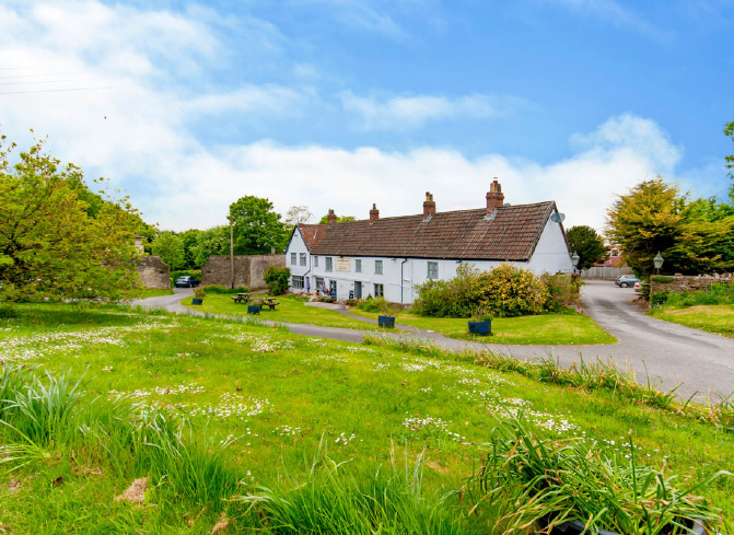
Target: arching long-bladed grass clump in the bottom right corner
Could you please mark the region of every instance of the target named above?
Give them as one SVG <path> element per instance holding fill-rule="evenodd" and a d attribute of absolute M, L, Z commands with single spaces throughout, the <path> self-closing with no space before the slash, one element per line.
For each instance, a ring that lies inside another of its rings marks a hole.
<path fill-rule="evenodd" d="M 640 465 L 631 433 L 628 440 L 621 453 L 609 454 L 596 441 L 540 439 L 522 416 L 500 422 L 479 444 L 486 458 L 468 479 L 473 510 L 489 508 L 504 534 L 580 521 L 592 534 L 675 535 L 696 523 L 712 530 L 722 522 L 721 511 L 696 493 L 734 475 L 720 470 L 696 484 L 681 481 L 665 466 Z"/>

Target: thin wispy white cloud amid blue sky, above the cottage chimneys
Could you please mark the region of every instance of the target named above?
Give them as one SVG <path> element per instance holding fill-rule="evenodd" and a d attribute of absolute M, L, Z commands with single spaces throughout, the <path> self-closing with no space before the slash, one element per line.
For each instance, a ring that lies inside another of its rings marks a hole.
<path fill-rule="evenodd" d="M 357 96 L 347 91 L 339 95 L 343 108 L 358 117 L 365 130 L 406 130 L 429 120 L 450 118 L 491 119 L 527 104 L 519 97 L 473 94 L 458 97 L 415 95 L 382 98 Z"/>

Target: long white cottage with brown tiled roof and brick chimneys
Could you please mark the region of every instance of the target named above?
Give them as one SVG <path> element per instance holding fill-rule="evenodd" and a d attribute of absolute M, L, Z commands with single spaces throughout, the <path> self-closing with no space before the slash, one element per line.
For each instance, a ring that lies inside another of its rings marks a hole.
<path fill-rule="evenodd" d="M 436 212 L 426 194 L 423 213 L 328 224 L 300 224 L 286 249 L 291 291 L 333 289 L 338 300 L 384 295 L 412 303 L 413 287 L 451 279 L 462 263 L 489 270 L 503 263 L 536 274 L 572 272 L 566 233 L 555 201 L 505 205 L 497 179 L 487 207 Z"/>

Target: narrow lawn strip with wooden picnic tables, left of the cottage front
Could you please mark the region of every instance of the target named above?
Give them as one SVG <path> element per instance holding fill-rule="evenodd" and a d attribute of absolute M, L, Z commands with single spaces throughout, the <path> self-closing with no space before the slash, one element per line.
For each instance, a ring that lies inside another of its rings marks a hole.
<path fill-rule="evenodd" d="M 306 306 L 303 299 L 295 295 L 278 295 L 275 311 L 264 307 L 260 311 L 260 319 L 271 319 L 273 322 L 282 323 L 305 323 L 311 325 L 318 325 L 321 327 L 342 327 L 359 330 L 378 330 L 376 325 L 371 325 L 359 319 L 339 314 L 336 311 L 327 309 L 317 309 L 315 306 Z M 207 294 L 201 305 L 193 305 L 191 298 L 186 298 L 182 301 L 184 306 L 191 310 L 209 312 L 211 314 L 225 314 L 232 316 L 246 316 L 247 305 L 244 303 L 235 304 L 230 295 L 225 294 Z"/>

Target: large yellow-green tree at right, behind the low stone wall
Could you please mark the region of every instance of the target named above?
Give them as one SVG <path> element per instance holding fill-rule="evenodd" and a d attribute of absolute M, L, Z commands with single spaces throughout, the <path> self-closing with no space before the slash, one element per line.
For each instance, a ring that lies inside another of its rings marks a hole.
<path fill-rule="evenodd" d="M 620 195 L 607 211 L 607 236 L 622 247 L 638 275 L 653 271 L 660 252 L 666 272 L 703 274 L 731 269 L 734 210 L 714 199 L 689 200 L 662 177 Z"/>

